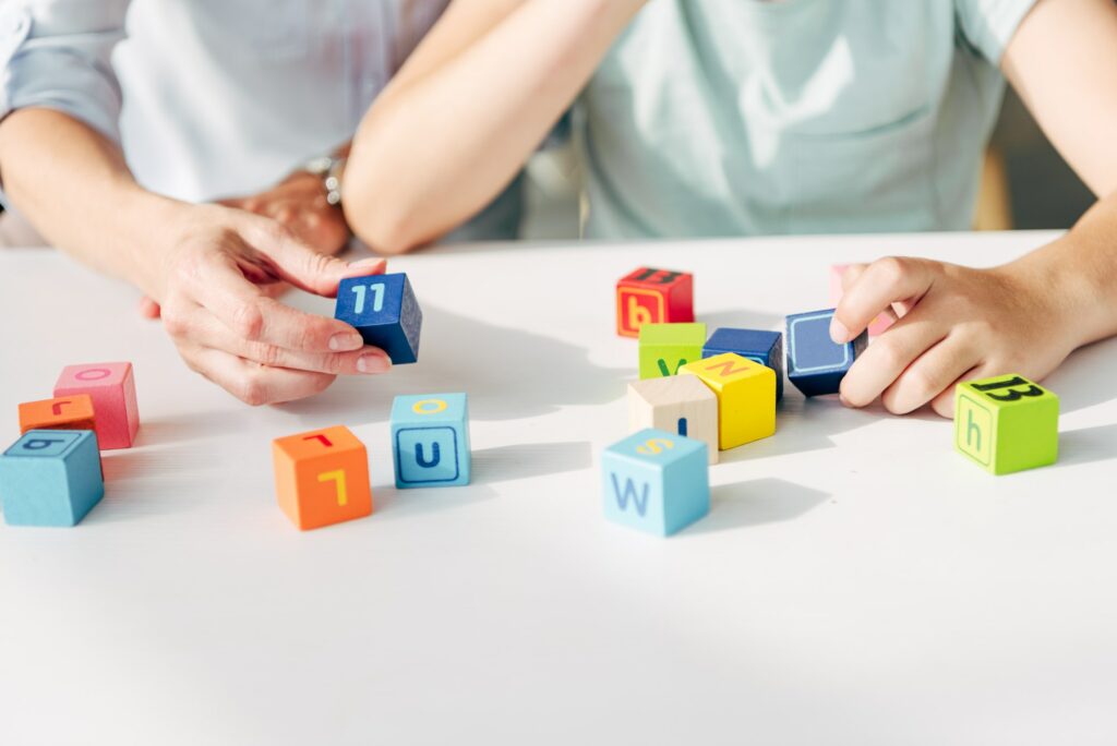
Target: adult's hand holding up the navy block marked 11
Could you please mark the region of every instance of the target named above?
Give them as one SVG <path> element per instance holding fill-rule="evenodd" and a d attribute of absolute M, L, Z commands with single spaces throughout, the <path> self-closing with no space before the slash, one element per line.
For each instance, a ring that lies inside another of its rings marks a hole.
<path fill-rule="evenodd" d="M 187 364 L 249 404 L 302 399 L 340 373 L 383 373 L 388 356 L 352 326 L 269 296 L 276 283 L 333 297 L 345 277 L 384 262 L 345 262 L 298 241 L 274 220 L 219 205 L 191 205 L 166 228 L 171 250 L 145 287 Z"/>

